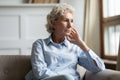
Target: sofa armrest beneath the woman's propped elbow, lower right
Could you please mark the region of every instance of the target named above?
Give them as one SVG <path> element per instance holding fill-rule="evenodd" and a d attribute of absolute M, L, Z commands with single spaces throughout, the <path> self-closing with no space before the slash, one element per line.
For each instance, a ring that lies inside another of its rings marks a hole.
<path fill-rule="evenodd" d="M 105 69 L 96 74 L 86 71 L 85 80 L 120 80 L 120 71 Z"/>

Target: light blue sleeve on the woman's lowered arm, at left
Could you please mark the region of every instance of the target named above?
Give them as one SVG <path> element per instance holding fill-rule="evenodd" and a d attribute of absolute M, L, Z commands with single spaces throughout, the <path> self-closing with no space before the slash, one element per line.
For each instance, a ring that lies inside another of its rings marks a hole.
<path fill-rule="evenodd" d="M 32 71 L 37 79 L 57 75 L 57 73 L 52 72 L 49 68 L 47 68 L 41 45 L 42 43 L 35 42 L 31 52 Z"/>

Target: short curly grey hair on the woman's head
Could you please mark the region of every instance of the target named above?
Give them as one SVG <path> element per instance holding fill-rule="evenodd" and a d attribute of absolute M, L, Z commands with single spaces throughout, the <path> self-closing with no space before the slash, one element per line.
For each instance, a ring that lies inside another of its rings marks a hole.
<path fill-rule="evenodd" d="M 66 3 L 61 3 L 53 7 L 52 11 L 47 15 L 47 24 L 46 28 L 49 33 L 54 32 L 54 28 L 51 24 L 51 21 L 55 21 L 59 16 L 63 15 L 65 12 L 74 13 L 74 8 Z"/>

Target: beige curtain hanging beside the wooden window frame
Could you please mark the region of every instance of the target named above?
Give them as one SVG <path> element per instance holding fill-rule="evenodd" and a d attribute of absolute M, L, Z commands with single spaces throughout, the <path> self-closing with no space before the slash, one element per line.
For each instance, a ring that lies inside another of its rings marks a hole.
<path fill-rule="evenodd" d="M 84 41 L 100 55 L 99 0 L 85 1 Z"/>

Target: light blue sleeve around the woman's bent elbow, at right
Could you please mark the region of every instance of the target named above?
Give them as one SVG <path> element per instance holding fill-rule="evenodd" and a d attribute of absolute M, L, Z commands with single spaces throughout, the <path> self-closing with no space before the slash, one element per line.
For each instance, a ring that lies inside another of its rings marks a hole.
<path fill-rule="evenodd" d="M 95 65 L 94 61 L 96 62 L 97 66 Z M 102 59 L 92 50 L 86 52 L 82 51 L 78 57 L 78 64 L 93 73 L 97 73 L 105 69 L 105 65 Z"/>

